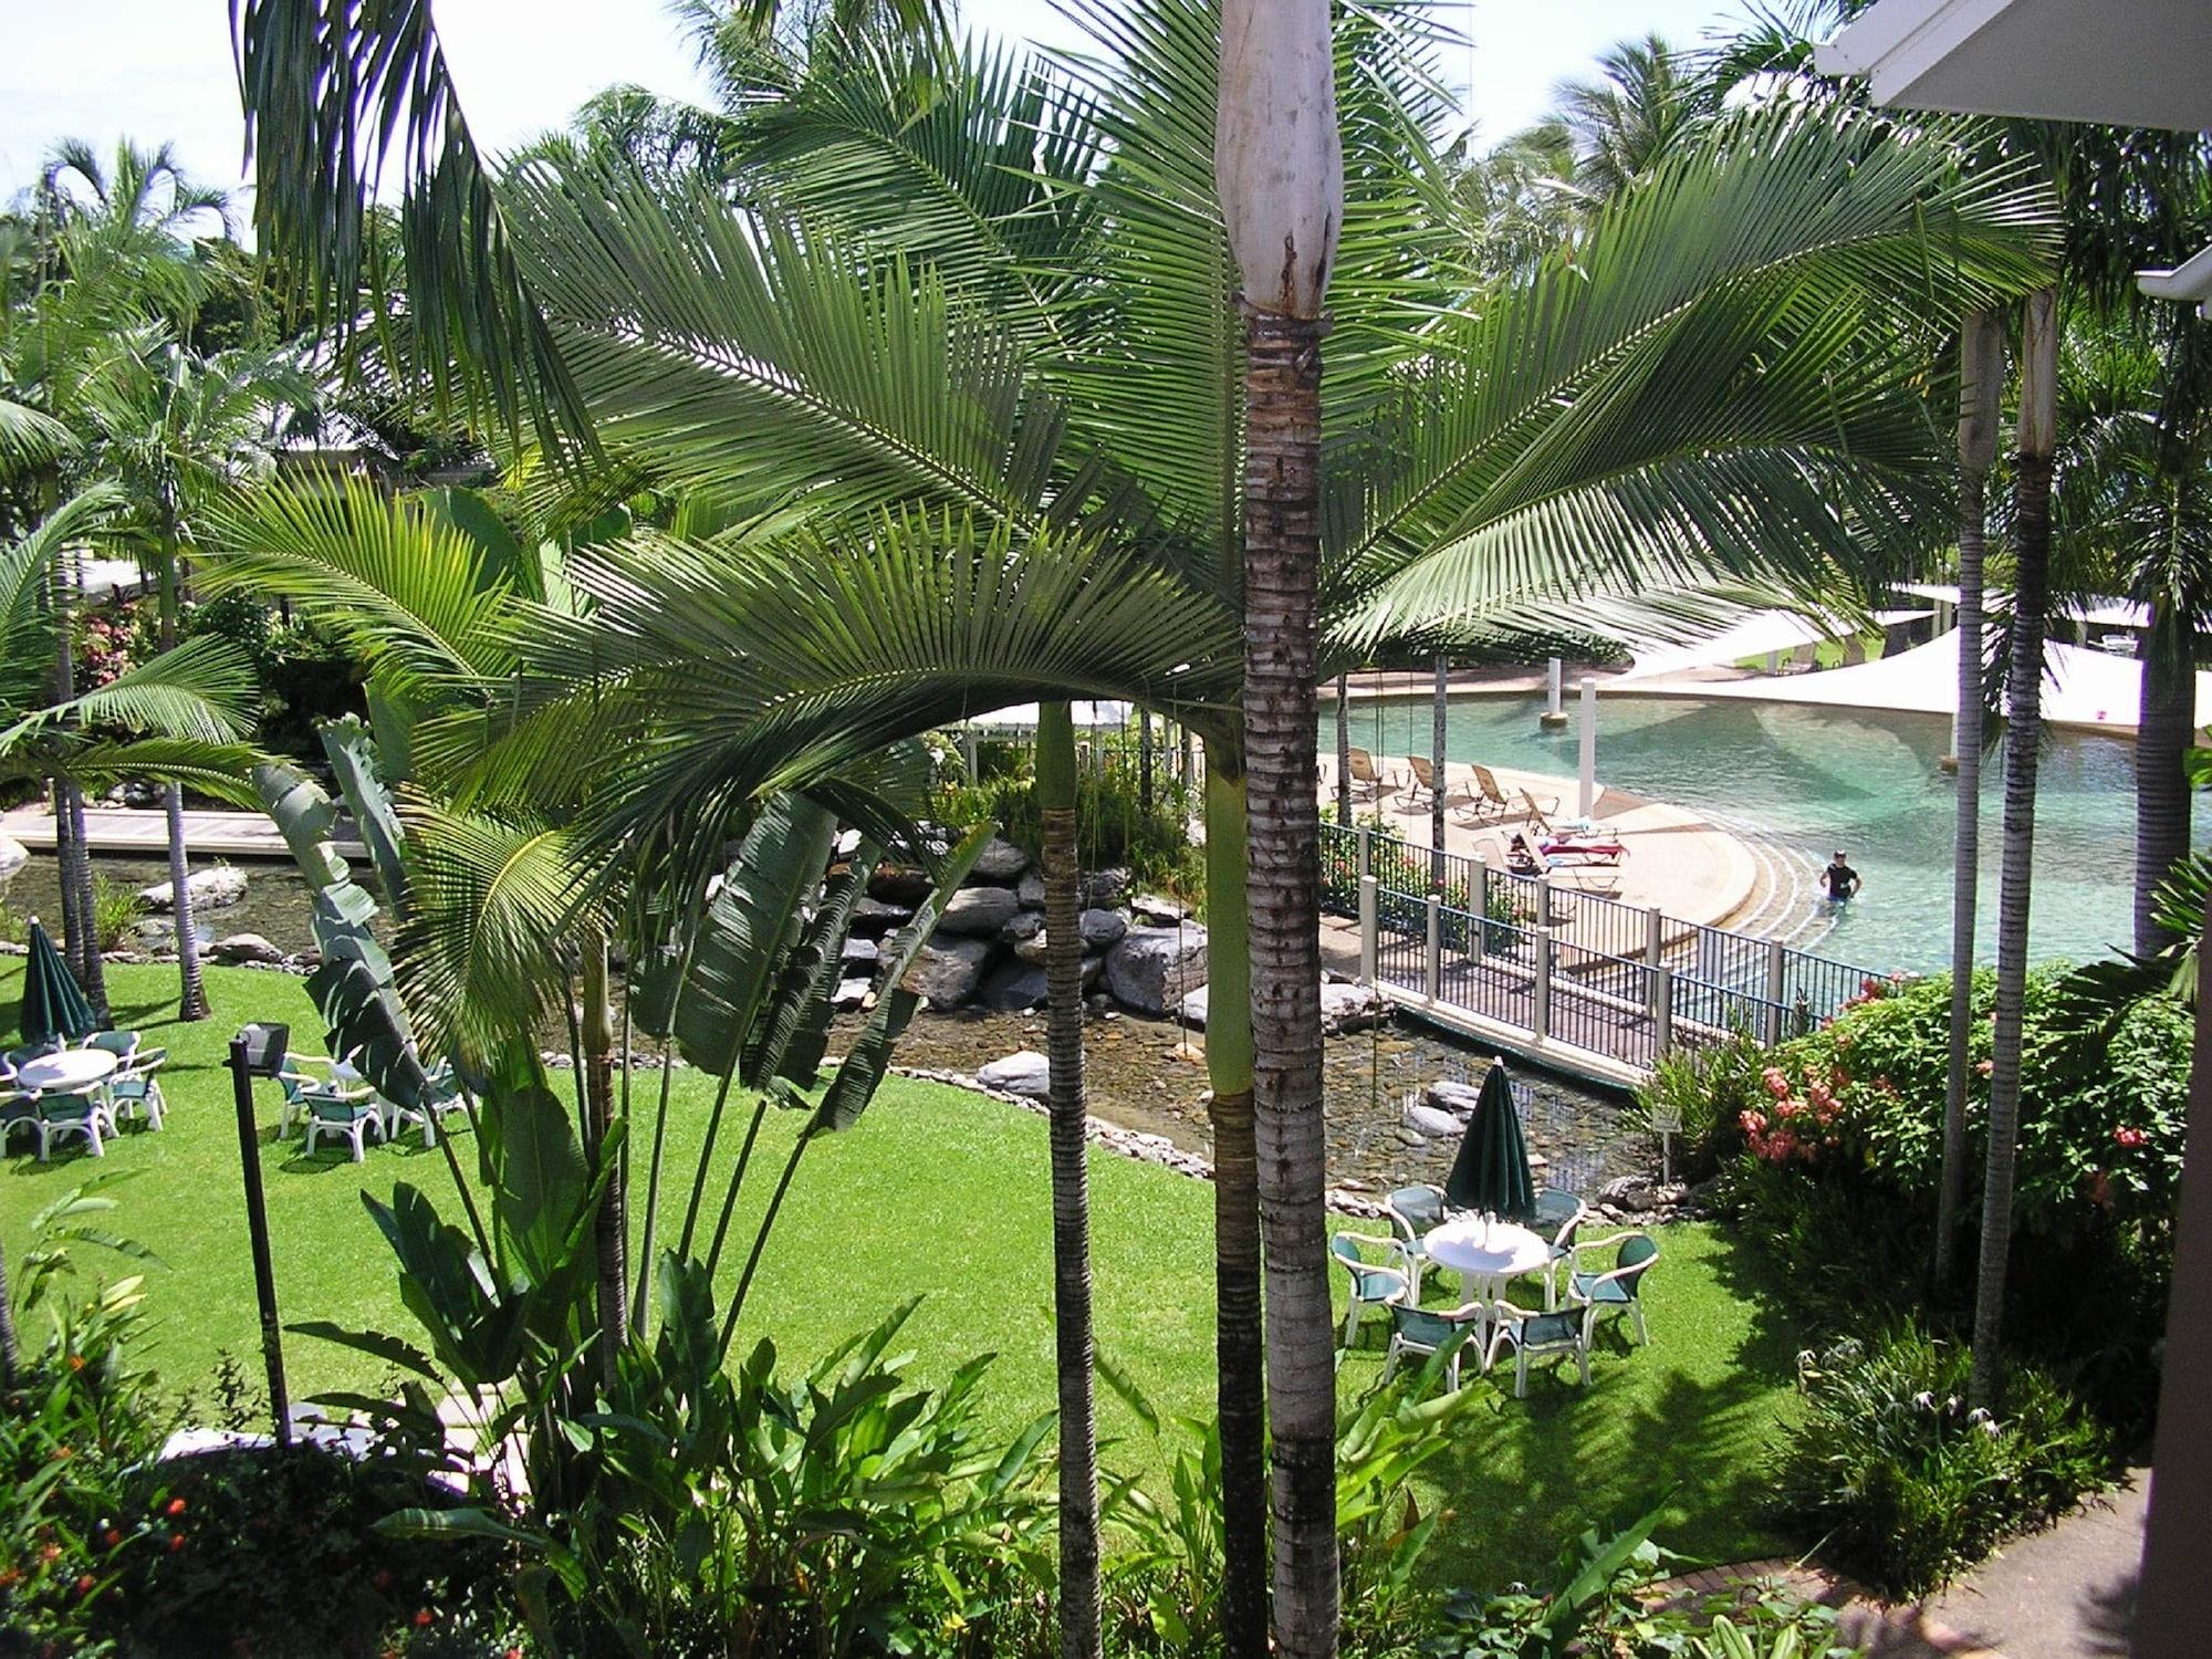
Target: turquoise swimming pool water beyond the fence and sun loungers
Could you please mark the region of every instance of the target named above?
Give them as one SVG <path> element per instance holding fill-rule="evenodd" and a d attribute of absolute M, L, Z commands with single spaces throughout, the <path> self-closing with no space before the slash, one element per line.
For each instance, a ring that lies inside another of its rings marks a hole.
<path fill-rule="evenodd" d="M 1579 710 L 1540 732 L 1542 699 L 1458 697 L 1447 750 L 1484 761 L 1573 776 Z M 1378 757 L 1427 754 L 1427 701 L 1352 710 L 1352 741 Z M 1323 748 L 1336 743 L 1323 712 Z M 1951 964 L 1951 825 L 1958 785 L 1938 770 L 1949 721 L 1927 714 L 1803 708 L 1734 699 L 1601 697 L 1597 779 L 1630 794 L 1672 801 L 1721 821 L 1741 821 L 1796 854 L 1798 867 L 1851 854 L 1865 894 L 1847 905 L 1812 949 L 1874 969 L 1929 971 Z M 2002 745 L 1982 761 L 1982 898 L 1975 947 L 1995 958 Z M 2212 812 L 2199 805 L 2199 841 Z M 2035 805 L 2037 958 L 2088 960 L 2130 931 L 2135 847 L 2132 741 L 2051 732 Z"/>

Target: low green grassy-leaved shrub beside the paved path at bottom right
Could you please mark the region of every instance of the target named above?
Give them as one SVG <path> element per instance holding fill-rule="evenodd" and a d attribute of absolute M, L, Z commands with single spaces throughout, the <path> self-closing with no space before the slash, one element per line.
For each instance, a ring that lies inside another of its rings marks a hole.
<path fill-rule="evenodd" d="M 1924 1595 L 2110 1475 L 2110 1436 L 2057 1383 L 2013 1365 L 2000 1409 L 1969 1411 L 1971 1365 L 1911 1323 L 1798 1356 L 1781 1511 L 1889 1595 Z"/>

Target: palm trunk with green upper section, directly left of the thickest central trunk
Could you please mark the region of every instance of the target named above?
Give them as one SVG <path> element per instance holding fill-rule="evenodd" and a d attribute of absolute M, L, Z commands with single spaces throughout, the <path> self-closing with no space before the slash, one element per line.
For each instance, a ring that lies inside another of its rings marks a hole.
<path fill-rule="evenodd" d="M 1259 1146 L 1252 1130 L 1252 942 L 1245 781 L 1206 741 L 1206 1079 L 1214 1130 L 1214 1411 L 1221 1425 L 1221 1646 L 1267 1652 L 1267 1380 L 1261 1343 Z"/>

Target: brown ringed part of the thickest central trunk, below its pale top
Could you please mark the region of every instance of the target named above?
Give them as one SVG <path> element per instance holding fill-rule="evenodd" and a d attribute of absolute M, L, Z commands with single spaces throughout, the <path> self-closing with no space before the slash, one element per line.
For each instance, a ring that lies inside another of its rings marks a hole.
<path fill-rule="evenodd" d="M 1314 635 L 1321 577 L 1321 338 L 1254 310 L 1245 332 L 1245 763 L 1252 1102 L 1274 1447 L 1274 1639 L 1336 1652 L 1336 1345 L 1321 1126 L 1321 858 Z"/>

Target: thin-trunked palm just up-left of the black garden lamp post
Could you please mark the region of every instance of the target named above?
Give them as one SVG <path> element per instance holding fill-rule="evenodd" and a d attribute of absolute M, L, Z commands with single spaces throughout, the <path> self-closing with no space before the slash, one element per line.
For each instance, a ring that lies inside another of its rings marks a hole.
<path fill-rule="evenodd" d="M 113 358 L 86 387 L 88 460 L 131 498 L 133 529 L 159 584 L 161 650 L 177 644 L 186 546 L 197 540 L 201 509 L 221 491 L 268 473 L 272 420 L 283 405 L 305 407 L 312 398 L 312 383 L 283 356 L 219 352 L 210 358 L 168 341 Z M 181 980 L 177 1018 L 204 1020 L 208 993 L 192 927 L 179 785 L 164 790 L 164 807 Z"/>

